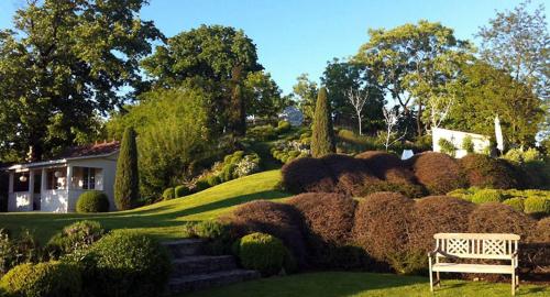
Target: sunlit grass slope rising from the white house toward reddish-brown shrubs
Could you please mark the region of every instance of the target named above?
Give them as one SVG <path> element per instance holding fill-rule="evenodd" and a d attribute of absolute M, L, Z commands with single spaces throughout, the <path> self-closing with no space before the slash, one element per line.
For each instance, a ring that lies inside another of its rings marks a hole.
<path fill-rule="evenodd" d="M 78 220 L 96 220 L 107 229 L 133 229 L 161 240 L 177 239 L 182 224 L 227 213 L 232 207 L 256 199 L 279 199 L 288 194 L 276 190 L 279 170 L 270 170 L 234 179 L 207 190 L 128 211 L 109 213 L 0 213 L 0 228 L 18 232 L 21 228 L 34 231 L 41 243 L 63 227 Z"/>

